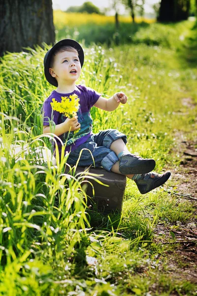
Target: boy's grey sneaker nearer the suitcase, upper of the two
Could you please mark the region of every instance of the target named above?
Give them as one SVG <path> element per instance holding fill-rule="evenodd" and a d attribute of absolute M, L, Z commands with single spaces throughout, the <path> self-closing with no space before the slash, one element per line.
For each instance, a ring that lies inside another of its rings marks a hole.
<path fill-rule="evenodd" d="M 155 168 L 154 159 L 144 159 L 134 154 L 125 154 L 120 158 L 119 171 L 123 175 L 146 174 Z"/>

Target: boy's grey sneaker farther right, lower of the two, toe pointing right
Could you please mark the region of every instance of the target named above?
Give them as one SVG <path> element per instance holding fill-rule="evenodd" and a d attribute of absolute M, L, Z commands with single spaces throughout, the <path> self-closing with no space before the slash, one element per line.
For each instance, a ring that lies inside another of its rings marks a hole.
<path fill-rule="evenodd" d="M 151 177 L 154 175 L 154 178 Z M 151 172 L 149 174 L 143 174 L 140 179 L 134 180 L 140 193 L 145 194 L 161 185 L 163 185 L 170 177 L 170 172 L 165 172 L 164 174 L 157 174 Z"/>

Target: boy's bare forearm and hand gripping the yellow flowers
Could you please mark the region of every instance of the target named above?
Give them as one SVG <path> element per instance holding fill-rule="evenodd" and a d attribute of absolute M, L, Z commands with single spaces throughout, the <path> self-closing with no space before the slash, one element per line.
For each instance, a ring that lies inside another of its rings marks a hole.
<path fill-rule="evenodd" d="M 69 131 L 75 131 L 80 128 L 81 124 L 77 120 L 78 116 L 72 118 L 66 118 L 66 120 L 60 124 L 55 125 L 55 130 L 53 133 L 56 136 L 60 136 Z M 49 125 L 43 126 L 43 134 L 51 133 L 51 128 Z"/>

